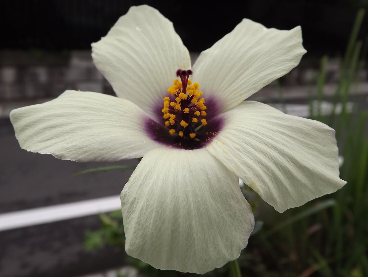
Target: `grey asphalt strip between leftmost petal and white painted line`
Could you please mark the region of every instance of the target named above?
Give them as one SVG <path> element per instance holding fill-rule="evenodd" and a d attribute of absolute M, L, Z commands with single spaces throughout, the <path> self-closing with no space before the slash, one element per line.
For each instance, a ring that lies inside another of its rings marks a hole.
<path fill-rule="evenodd" d="M 118 195 L 131 170 L 71 175 L 100 166 L 138 164 L 137 159 L 77 163 L 22 150 L 9 119 L 0 121 L 0 157 L 0 213 Z"/>

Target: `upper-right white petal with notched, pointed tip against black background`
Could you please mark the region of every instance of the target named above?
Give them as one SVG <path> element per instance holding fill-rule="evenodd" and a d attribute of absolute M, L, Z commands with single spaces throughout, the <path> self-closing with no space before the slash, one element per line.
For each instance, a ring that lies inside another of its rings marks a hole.
<path fill-rule="evenodd" d="M 300 26 L 290 31 L 267 29 L 243 19 L 199 55 L 193 79 L 206 95 L 216 94 L 228 110 L 285 75 L 305 53 Z"/>

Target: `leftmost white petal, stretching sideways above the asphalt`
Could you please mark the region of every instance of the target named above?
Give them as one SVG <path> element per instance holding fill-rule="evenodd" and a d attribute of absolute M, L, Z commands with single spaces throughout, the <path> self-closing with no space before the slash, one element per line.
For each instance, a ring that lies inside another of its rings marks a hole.
<path fill-rule="evenodd" d="M 20 146 L 78 162 L 143 157 L 159 145 L 143 133 L 148 116 L 128 100 L 67 90 L 10 113 Z"/>

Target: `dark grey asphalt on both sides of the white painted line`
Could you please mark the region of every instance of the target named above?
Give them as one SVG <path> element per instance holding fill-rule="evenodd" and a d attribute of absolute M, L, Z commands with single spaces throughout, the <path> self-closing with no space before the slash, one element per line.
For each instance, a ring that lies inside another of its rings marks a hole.
<path fill-rule="evenodd" d="M 9 119 L 0 120 L 0 156 L 0 213 L 118 195 L 130 170 L 70 175 L 138 163 L 77 163 L 27 152 L 19 147 Z M 85 230 L 99 225 L 98 216 L 88 216 L 0 232 L 0 277 L 70 277 L 123 265 L 123 250 L 83 249 Z"/>

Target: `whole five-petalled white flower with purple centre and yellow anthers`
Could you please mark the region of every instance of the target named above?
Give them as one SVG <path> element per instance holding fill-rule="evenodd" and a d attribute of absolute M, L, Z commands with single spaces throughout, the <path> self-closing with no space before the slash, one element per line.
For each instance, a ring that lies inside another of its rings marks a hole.
<path fill-rule="evenodd" d="M 346 183 L 333 129 L 244 101 L 299 63 L 300 26 L 267 29 L 244 19 L 192 72 L 177 72 L 181 89 L 172 81 L 177 69 L 191 68 L 189 53 L 154 8 L 132 7 L 92 50 L 120 98 L 68 90 L 10 118 L 28 151 L 78 162 L 143 157 L 121 192 L 129 255 L 205 273 L 236 259 L 253 229 L 238 177 L 279 212 Z M 201 91 L 192 83 L 180 95 L 191 73 Z"/>

